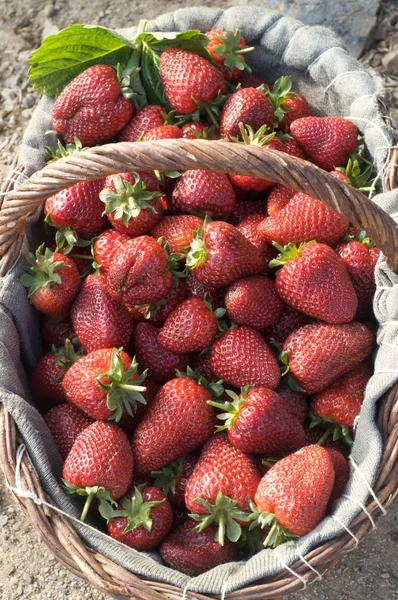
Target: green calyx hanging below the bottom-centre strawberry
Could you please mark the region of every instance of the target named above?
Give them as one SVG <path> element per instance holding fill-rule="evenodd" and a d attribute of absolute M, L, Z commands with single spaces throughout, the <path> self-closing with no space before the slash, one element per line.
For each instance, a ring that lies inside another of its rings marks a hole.
<path fill-rule="evenodd" d="M 217 528 L 214 540 L 221 546 L 224 546 L 225 538 L 231 542 L 237 542 L 242 534 L 242 528 L 237 523 L 237 520 L 247 523 L 249 514 L 240 510 L 237 506 L 237 501 L 224 496 L 219 492 L 215 504 L 210 504 L 202 498 L 195 498 L 194 502 L 202 504 L 206 510 L 206 515 L 192 513 L 189 515 L 195 521 L 198 521 L 196 529 L 203 531 L 209 525 L 214 525 Z"/>

